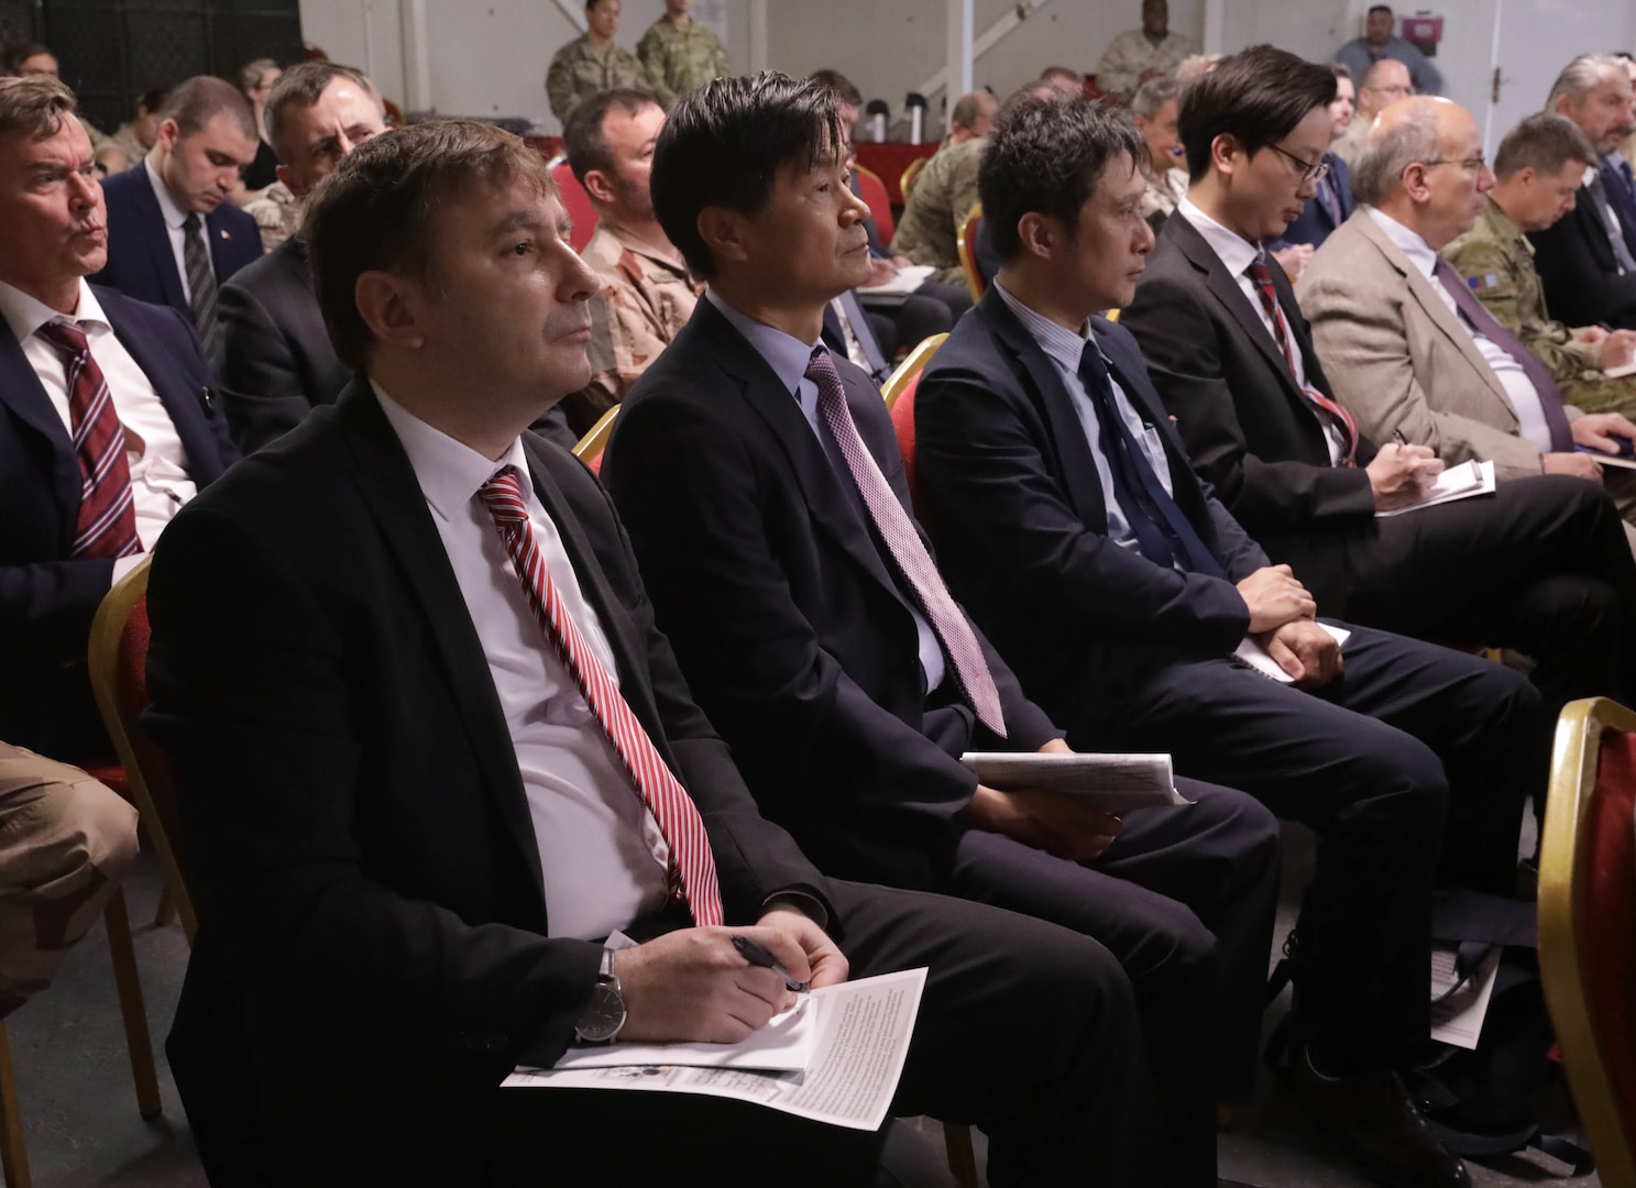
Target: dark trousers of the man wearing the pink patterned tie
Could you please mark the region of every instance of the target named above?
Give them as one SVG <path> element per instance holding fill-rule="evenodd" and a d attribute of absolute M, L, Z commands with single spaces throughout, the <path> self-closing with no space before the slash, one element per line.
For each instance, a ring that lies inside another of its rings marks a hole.
<path fill-rule="evenodd" d="M 1242 792 L 1178 785 L 1193 805 L 1126 815 L 1119 838 L 1088 866 L 967 831 L 937 889 L 1063 925 L 1119 959 L 1178 1181 L 1212 1185 L 1214 1105 L 1248 1101 L 1255 1083 L 1278 821 Z"/>

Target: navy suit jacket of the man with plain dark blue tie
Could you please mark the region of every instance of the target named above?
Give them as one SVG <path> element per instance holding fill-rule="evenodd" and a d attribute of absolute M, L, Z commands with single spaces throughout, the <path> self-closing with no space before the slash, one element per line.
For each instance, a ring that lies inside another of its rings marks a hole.
<path fill-rule="evenodd" d="M 1250 625 L 1232 586 L 1265 566 L 1188 465 L 1122 326 L 1091 319 L 1114 378 L 1158 430 L 1176 504 L 1230 581 L 1162 568 L 1108 538 L 1108 509 L 1073 399 L 990 288 L 933 357 L 915 394 L 926 527 L 955 596 L 1029 692 L 1067 717 L 1155 651 L 1230 653 Z"/>

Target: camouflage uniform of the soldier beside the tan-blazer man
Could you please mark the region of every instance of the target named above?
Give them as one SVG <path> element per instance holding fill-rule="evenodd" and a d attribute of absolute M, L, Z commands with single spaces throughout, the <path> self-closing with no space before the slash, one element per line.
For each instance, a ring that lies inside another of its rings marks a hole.
<path fill-rule="evenodd" d="M 1600 352 L 1574 342 L 1574 331 L 1551 321 L 1533 265 L 1533 244 L 1490 198 L 1476 226 L 1443 249 L 1446 259 L 1494 319 L 1539 357 L 1562 401 L 1585 412 L 1636 414 L 1636 376 L 1608 380 Z"/>

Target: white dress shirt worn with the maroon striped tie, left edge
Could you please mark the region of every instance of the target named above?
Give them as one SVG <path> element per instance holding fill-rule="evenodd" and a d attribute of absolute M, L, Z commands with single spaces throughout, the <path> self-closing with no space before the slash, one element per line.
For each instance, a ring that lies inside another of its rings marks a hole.
<path fill-rule="evenodd" d="M 131 502 L 136 507 L 136 537 L 142 550 L 154 547 L 160 530 L 170 524 L 198 488 L 188 478 L 188 455 L 182 448 L 164 401 L 131 352 L 108 324 L 97 295 L 80 280 L 80 301 L 74 314 L 59 314 L 43 301 L 36 301 L 20 288 L 0 281 L 0 313 L 5 314 L 11 334 L 23 347 L 23 357 L 46 389 L 51 407 L 62 417 L 69 437 L 74 435 L 74 417 L 69 411 L 69 360 L 57 347 L 39 337 L 46 322 L 77 326 L 85 334 L 92 358 L 108 381 L 113 409 L 124 425 L 126 461 L 131 466 Z M 119 581 L 136 568 L 141 555 L 121 556 L 113 563 L 113 579 Z"/>

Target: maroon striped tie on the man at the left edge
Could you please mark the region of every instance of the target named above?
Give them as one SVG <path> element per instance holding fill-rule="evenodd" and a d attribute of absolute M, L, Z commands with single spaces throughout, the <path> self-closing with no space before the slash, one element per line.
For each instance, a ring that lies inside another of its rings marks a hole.
<path fill-rule="evenodd" d="M 113 407 L 108 381 L 92 358 L 77 326 L 46 322 L 39 337 L 67 355 L 69 425 L 80 461 L 80 514 L 74 525 L 72 558 L 115 558 L 142 551 L 131 502 L 131 463 L 124 457 L 124 425 Z"/>

